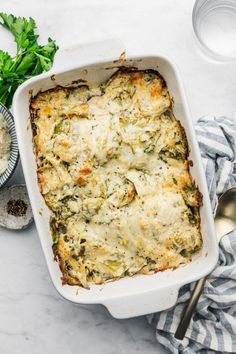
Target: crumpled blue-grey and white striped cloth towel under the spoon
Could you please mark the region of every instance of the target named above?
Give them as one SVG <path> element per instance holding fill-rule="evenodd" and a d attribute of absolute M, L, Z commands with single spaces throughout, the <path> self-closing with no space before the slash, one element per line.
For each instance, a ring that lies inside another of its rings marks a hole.
<path fill-rule="evenodd" d="M 236 186 L 236 124 L 225 117 L 203 117 L 196 133 L 212 208 L 218 196 Z M 218 264 L 208 277 L 186 337 L 174 337 L 194 283 L 180 289 L 177 305 L 149 316 L 156 338 L 171 353 L 236 353 L 236 232 L 220 243 Z"/>

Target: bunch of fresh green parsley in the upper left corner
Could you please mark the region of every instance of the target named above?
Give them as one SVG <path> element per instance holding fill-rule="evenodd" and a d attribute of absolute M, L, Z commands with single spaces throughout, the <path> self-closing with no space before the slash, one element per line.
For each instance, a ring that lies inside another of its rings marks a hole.
<path fill-rule="evenodd" d="M 10 107 L 20 84 L 50 69 L 58 46 L 51 38 L 45 45 L 38 44 L 36 23 L 31 17 L 26 19 L 0 13 L 0 20 L 0 25 L 12 33 L 17 45 L 15 57 L 0 50 L 0 102 Z"/>

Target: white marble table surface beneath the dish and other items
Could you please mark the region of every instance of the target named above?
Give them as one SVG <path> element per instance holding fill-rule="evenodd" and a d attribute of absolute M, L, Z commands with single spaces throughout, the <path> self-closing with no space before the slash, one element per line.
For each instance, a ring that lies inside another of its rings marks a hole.
<path fill-rule="evenodd" d="M 193 0 L 1 0 L 0 11 L 32 16 L 42 42 L 60 47 L 118 37 L 127 52 L 165 52 L 182 73 L 193 119 L 233 115 L 236 65 L 208 61 L 192 33 Z M 0 29 L 1 49 L 13 52 Z M 23 182 L 20 166 L 10 184 Z M 34 226 L 0 228 L 0 352 L 2 354 L 165 353 L 145 317 L 115 320 L 101 306 L 63 300 L 49 279 Z"/>

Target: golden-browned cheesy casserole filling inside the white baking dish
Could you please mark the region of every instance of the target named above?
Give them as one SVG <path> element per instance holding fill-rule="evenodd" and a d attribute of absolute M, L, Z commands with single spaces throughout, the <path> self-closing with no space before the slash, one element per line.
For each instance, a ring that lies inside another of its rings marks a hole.
<path fill-rule="evenodd" d="M 39 93 L 31 120 L 64 283 L 174 269 L 201 248 L 202 198 L 158 72 Z"/>

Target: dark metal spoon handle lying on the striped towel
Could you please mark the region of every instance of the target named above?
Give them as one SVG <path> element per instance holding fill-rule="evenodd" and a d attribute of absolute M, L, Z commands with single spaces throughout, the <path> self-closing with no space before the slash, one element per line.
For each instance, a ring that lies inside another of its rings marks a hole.
<path fill-rule="evenodd" d="M 193 316 L 193 313 L 196 309 L 199 297 L 200 297 L 202 290 L 204 288 L 206 279 L 207 279 L 207 277 L 204 277 L 204 278 L 201 278 L 197 281 L 195 288 L 192 292 L 192 295 L 189 299 L 189 302 L 183 311 L 182 319 L 181 319 L 181 321 L 178 325 L 178 328 L 175 332 L 175 338 L 181 339 L 181 340 L 184 338 L 185 333 L 188 329 L 189 323 L 191 321 L 191 318 Z"/>

